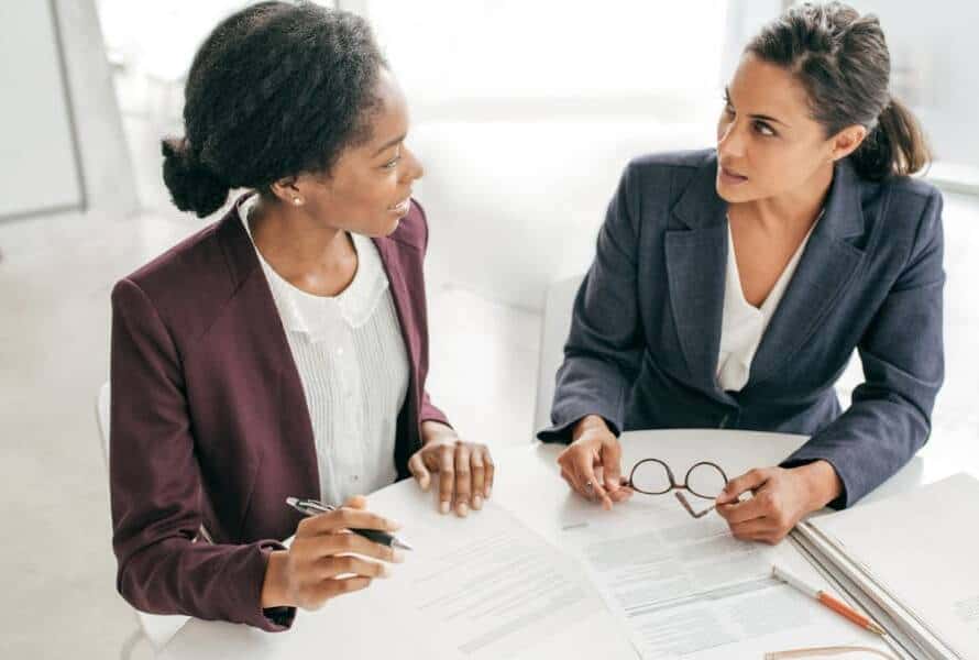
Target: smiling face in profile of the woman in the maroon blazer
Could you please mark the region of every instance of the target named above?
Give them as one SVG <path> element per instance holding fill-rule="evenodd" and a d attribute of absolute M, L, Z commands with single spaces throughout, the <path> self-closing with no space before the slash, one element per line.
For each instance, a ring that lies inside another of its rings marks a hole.
<path fill-rule="evenodd" d="M 408 109 L 386 69 L 381 69 L 375 94 L 381 102 L 367 119 L 370 140 L 345 148 L 328 175 L 296 177 L 295 187 L 312 218 L 328 219 L 336 229 L 386 237 L 407 215 L 411 184 L 424 169 L 405 146 Z"/>

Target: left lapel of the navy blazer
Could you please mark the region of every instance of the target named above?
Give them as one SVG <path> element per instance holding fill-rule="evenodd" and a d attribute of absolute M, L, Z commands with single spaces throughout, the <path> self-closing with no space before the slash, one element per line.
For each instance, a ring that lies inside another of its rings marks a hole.
<path fill-rule="evenodd" d="M 673 207 L 681 228 L 667 230 L 666 263 L 676 334 L 693 384 L 732 403 L 717 386 L 721 320 L 727 267 L 727 202 L 716 193 L 717 161 L 694 175 Z"/>

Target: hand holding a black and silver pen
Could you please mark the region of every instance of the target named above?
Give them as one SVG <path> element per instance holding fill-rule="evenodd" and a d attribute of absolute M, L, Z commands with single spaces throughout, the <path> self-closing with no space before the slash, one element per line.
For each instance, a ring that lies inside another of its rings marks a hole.
<path fill-rule="evenodd" d="M 330 598 L 365 588 L 374 578 L 387 578 L 391 569 L 382 561 L 400 562 L 402 553 L 349 529 L 394 531 L 399 526 L 365 506 L 366 499 L 355 496 L 337 510 L 300 520 L 289 549 L 268 557 L 262 607 L 319 609 Z"/>

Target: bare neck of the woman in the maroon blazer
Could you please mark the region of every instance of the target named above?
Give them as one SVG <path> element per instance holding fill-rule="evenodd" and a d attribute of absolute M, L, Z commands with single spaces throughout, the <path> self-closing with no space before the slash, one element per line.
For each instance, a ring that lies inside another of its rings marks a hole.
<path fill-rule="evenodd" d="M 249 216 L 255 245 L 289 280 L 336 267 L 350 253 L 346 233 L 319 221 L 304 208 L 260 198 Z"/>

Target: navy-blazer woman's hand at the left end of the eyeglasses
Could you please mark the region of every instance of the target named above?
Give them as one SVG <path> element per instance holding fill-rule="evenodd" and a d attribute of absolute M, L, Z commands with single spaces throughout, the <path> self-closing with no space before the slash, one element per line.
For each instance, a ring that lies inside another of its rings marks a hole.
<path fill-rule="evenodd" d="M 632 490 L 623 485 L 622 447 L 596 415 L 582 418 L 574 427 L 574 441 L 558 457 L 561 476 L 571 488 L 592 502 L 601 502 L 605 510 L 631 497 Z M 601 477 L 595 471 L 602 469 Z"/>

